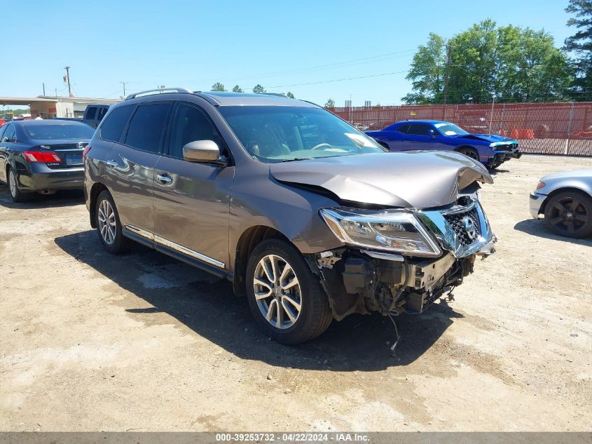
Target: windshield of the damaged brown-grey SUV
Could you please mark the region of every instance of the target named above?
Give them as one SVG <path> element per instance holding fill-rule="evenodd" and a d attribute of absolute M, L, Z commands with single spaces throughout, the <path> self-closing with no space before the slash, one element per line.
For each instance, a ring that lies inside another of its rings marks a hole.
<path fill-rule="evenodd" d="M 219 111 L 247 152 L 263 162 L 385 151 L 320 108 L 219 107 Z"/>

